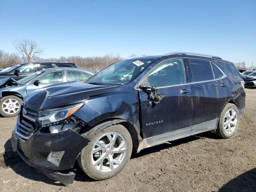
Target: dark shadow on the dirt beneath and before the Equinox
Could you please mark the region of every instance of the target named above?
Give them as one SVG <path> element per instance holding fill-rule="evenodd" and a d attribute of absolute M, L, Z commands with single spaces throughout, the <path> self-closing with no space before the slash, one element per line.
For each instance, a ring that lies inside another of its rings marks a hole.
<path fill-rule="evenodd" d="M 202 138 L 216 138 L 216 137 L 213 136 L 213 134 L 211 134 L 211 133 L 198 134 L 196 136 L 190 136 L 187 138 L 175 140 L 171 144 L 166 143 L 166 144 L 161 144 L 158 146 L 146 148 L 138 154 L 132 154 L 131 158 L 137 158 L 140 156 L 158 152 L 160 150 L 178 146 L 178 145 L 184 144 L 184 143 L 189 143 L 194 140 L 198 140 L 198 139 L 202 139 Z M 28 166 L 16 152 L 12 151 L 11 139 L 7 140 L 7 142 L 4 144 L 4 148 L 5 148 L 4 154 L 1 154 L 1 156 L 3 156 L 3 158 L 2 157 L 0 158 L 0 167 L 4 167 L 4 168 L 10 167 L 10 168 L 12 168 L 12 170 L 14 170 L 14 172 L 16 174 L 19 174 L 20 176 L 30 179 L 30 180 L 44 182 L 47 184 L 53 184 L 56 186 L 63 186 L 63 184 L 61 184 L 59 182 L 54 182 L 53 180 L 47 178 L 43 174 L 39 174 L 37 172 L 37 170 Z M 74 165 L 74 168 L 72 170 L 68 170 L 68 171 L 72 171 L 76 174 L 75 179 L 74 179 L 75 181 L 95 182 L 95 180 L 91 179 L 86 174 L 84 174 L 84 172 L 80 169 L 80 167 L 78 166 L 77 163 Z"/>

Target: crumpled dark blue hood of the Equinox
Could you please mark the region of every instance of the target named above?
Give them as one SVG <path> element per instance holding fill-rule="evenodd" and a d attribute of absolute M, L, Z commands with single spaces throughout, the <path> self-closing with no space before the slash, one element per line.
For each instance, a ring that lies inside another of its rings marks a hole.
<path fill-rule="evenodd" d="M 84 102 L 86 98 L 114 92 L 120 86 L 100 86 L 81 82 L 62 83 L 35 90 L 24 98 L 24 105 L 34 112 Z"/>

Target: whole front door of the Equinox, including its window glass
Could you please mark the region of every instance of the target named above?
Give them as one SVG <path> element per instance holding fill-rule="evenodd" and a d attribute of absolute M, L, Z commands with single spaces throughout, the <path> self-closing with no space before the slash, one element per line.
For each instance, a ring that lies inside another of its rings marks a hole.
<path fill-rule="evenodd" d="M 191 84 L 186 84 L 182 59 L 170 59 L 156 65 L 139 85 L 156 86 L 158 94 L 164 94 L 159 103 L 148 104 L 150 90 L 138 89 L 144 138 L 192 126 L 192 88 Z"/>

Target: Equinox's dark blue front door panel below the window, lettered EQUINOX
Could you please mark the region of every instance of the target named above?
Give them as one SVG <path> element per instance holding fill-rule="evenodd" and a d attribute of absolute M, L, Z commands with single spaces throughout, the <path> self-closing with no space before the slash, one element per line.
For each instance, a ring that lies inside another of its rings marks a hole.
<path fill-rule="evenodd" d="M 191 85 L 180 85 L 158 88 L 164 98 L 158 104 L 148 104 L 148 94 L 139 90 L 144 138 L 172 132 L 192 125 L 192 92 Z"/>

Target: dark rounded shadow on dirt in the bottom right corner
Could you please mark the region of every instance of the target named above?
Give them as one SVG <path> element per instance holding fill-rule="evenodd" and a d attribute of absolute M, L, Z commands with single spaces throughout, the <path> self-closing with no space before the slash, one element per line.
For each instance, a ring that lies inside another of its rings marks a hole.
<path fill-rule="evenodd" d="M 253 168 L 224 185 L 219 192 L 255 192 L 256 191 L 256 168 Z"/>

